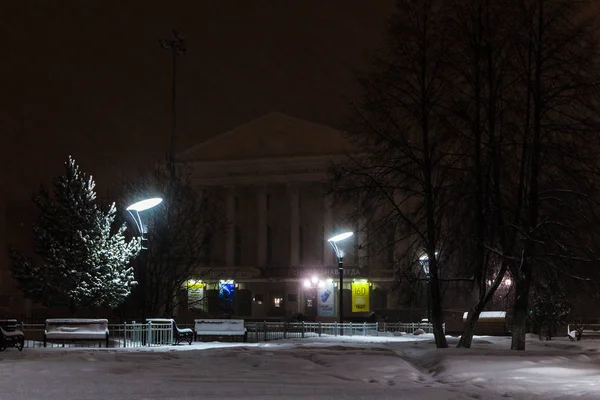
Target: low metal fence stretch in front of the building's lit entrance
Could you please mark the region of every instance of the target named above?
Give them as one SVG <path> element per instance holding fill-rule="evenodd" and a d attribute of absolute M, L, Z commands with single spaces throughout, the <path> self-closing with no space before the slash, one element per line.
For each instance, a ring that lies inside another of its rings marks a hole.
<path fill-rule="evenodd" d="M 247 322 L 248 341 L 319 336 L 377 336 L 378 323 Z"/>

